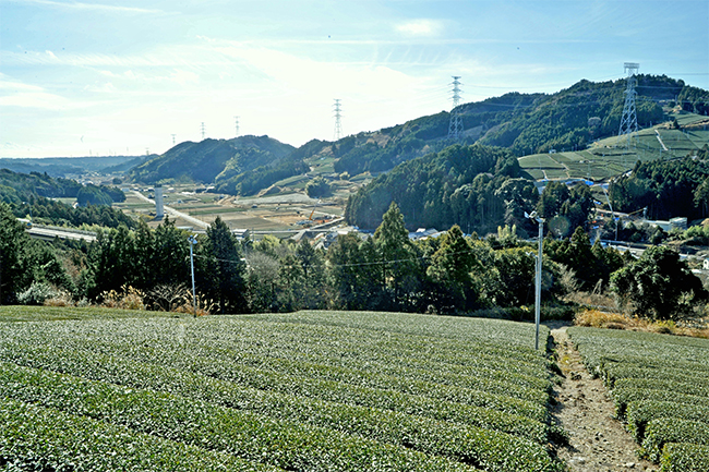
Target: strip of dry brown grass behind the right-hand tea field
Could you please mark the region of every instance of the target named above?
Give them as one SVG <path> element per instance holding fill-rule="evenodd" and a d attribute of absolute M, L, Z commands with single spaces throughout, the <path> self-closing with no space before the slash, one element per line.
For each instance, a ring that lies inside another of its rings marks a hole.
<path fill-rule="evenodd" d="M 689 336 L 709 339 L 709 328 L 693 328 L 677 325 L 675 322 L 651 322 L 644 318 L 630 317 L 620 313 L 608 313 L 599 310 L 584 310 L 574 318 L 576 326 L 588 326 L 606 329 L 627 329 L 630 331 L 661 332 L 665 335 Z"/>

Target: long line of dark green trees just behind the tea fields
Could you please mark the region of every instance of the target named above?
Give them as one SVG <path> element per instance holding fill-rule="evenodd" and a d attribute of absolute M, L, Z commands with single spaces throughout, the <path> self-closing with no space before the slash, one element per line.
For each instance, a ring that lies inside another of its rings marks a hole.
<path fill-rule="evenodd" d="M 189 292 L 189 234 L 167 218 L 154 230 L 145 222 L 133 230 L 121 225 L 100 231 L 91 244 L 53 245 L 29 240 L 4 204 L 0 219 L 2 303 L 41 303 L 37 293 L 51 295 L 43 287 L 75 302 L 101 303 L 130 288 L 142 293 L 145 305 L 170 310 Z M 543 251 L 546 304 L 570 291 L 610 289 L 629 310 L 673 317 L 706 300 L 701 283 L 670 250 L 634 259 L 591 244 L 578 228 L 570 238 L 549 233 Z M 373 235 L 339 235 L 327 250 L 274 237 L 237 241 L 217 218 L 197 235 L 193 252 L 196 292 L 209 301 L 212 313 L 327 308 L 466 314 L 502 308 L 524 316 L 530 313 L 524 306 L 534 298 L 534 244 L 519 239 L 515 227 L 501 227 L 482 239 L 453 226 L 440 238 L 412 241 L 396 204 Z M 661 286 L 668 280 L 678 285 Z M 649 293 L 654 298 L 648 304 Z"/>

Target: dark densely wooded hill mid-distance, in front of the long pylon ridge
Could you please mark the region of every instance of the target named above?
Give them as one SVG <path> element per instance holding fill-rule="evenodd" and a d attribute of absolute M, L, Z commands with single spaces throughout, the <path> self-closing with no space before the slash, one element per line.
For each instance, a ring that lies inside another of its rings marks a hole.
<path fill-rule="evenodd" d="M 409 228 L 459 225 L 464 231 L 486 232 L 506 216 L 514 225 L 537 204 L 533 183 L 518 177 L 519 164 L 506 149 L 454 145 L 380 176 L 350 197 L 345 216 L 353 225 L 376 228 L 396 202 Z"/>

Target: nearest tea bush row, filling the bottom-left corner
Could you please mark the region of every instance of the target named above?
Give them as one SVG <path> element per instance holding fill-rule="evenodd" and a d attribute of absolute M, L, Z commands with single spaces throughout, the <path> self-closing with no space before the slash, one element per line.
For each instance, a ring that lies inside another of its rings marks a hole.
<path fill-rule="evenodd" d="M 0 457 L 15 470 L 273 471 L 55 408 L 0 399 Z M 131 451 L 131 453 L 127 453 Z"/>

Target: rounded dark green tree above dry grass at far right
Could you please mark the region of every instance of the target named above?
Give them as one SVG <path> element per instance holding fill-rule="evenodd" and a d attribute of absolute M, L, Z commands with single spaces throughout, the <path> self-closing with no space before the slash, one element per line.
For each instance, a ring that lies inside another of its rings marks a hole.
<path fill-rule="evenodd" d="M 629 313 L 650 319 L 675 319 L 692 313 L 692 303 L 707 293 L 701 281 L 665 246 L 642 256 L 611 276 L 611 289 Z"/>

